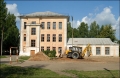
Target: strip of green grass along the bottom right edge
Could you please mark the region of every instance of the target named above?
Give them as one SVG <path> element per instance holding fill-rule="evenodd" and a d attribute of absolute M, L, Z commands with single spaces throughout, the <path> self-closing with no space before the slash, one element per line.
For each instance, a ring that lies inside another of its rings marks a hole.
<path fill-rule="evenodd" d="M 78 78 L 119 78 L 119 70 L 76 71 L 64 70 L 63 72 L 77 75 Z"/>

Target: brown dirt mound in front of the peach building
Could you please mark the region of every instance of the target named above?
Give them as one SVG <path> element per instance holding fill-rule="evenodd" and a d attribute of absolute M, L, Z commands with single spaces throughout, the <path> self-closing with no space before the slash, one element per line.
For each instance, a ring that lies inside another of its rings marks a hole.
<path fill-rule="evenodd" d="M 38 52 L 34 56 L 31 56 L 28 60 L 29 61 L 46 61 L 49 60 L 50 58 L 45 55 L 43 52 Z"/>

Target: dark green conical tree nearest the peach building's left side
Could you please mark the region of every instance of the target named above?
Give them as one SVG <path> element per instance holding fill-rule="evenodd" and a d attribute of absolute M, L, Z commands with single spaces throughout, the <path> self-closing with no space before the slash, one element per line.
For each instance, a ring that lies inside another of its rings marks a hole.
<path fill-rule="evenodd" d="M 16 17 L 14 14 L 8 14 L 9 17 L 6 22 L 6 31 L 4 34 L 4 41 L 3 41 L 3 47 L 4 50 L 9 50 L 9 48 L 12 47 L 18 47 L 19 43 L 19 30 L 16 26 Z"/>

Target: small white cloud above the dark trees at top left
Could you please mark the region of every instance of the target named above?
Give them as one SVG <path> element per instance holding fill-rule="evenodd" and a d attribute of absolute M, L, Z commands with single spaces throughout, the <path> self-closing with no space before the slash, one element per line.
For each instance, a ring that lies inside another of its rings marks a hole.
<path fill-rule="evenodd" d="M 18 9 L 17 9 L 17 4 L 7 4 L 6 7 L 8 8 L 8 11 L 11 13 L 11 14 L 14 14 L 16 16 L 16 21 L 20 21 L 20 19 L 17 17 L 20 15 L 20 13 L 18 12 Z"/>

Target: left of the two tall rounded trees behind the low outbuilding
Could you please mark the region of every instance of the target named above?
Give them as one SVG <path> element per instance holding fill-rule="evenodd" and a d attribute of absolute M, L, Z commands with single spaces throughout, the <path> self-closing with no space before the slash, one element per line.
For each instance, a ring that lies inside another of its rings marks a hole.
<path fill-rule="evenodd" d="M 88 24 L 82 22 L 78 27 L 79 38 L 88 38 Z"/>

